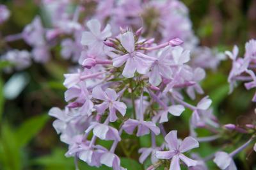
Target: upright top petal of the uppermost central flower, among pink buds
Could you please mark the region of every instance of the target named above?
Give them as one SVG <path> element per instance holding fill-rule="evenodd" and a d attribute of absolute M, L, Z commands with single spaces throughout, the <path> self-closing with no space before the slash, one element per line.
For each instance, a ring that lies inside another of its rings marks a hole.
<path fill-rule="evenodd" d="M 120 41 L 127 52 L 134 52 L 135 42 L 134 35 L 131 31 L 127 31 L 126 33 L 122 34 Z"/>

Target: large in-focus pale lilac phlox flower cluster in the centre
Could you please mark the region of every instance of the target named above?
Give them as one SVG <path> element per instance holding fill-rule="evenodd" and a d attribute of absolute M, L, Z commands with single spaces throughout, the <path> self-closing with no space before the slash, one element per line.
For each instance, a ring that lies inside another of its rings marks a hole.
<path fill-rule="evenodd" d="M 102 27 L 95 19 L 86 26 L 79 69 L 65 74 L 67 107 L 65 111 L 53 108 L 49 113 L 58 119 L 53 125 L 61 134 L 61 141 L 69 145 L 67 156 L 77 157 L 90 166 L 104 164 L 122 169 L 115 154 L 122 135 L 149 134 L 152 147 L 139 150 L 141 163 L 151 154 L 152 164 L 157 158 L 172 158 L 171 169 L 179 169 L 179 159 L 188 167 L 197 166 L 196 160 L 183 154 L 198 147 L 196 139 L 187 137 L 179 143 L 177 131 L 166 135 L 163 127 L 170 119 L 168 113 L 180 116 L 186 108 L 193 111 L 192 129 L 211 122 L 218 127 L 214 117 L 212 120 L 204 116 L 211 114 L 208 97 L 196 106 L 184 101 L 183 89 L 192 100 L 196 93 L 204 93 L 199 82 L 205 72 L 188 65 L 190 51 L 181 46 L 182 40 L 174 38 L 156 44 L 152 38 L 141 36 L 142 29 L 133 32 L 121 28 L 118 35 L 112 36 L 111 26 Z M 132 114 L 127 113 L 128 108 L 132 108 Z M 165 137 L 166 144 L 157 146 L 159 135 Z M 111 140 L 113 144 L 104 148 L 97 140 Z M 165 148 L 170 151 L 164 151 Z"/>

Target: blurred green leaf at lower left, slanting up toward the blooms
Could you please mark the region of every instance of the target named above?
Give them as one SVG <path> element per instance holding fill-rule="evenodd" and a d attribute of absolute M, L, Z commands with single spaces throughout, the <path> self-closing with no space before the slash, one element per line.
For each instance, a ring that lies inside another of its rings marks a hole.
<path fill-rule="evenodd" d="M 19 147 L 25 146 L 44 127 L 49 120 L 48 114 L 42 114 L 24 121 L 16 132 L 16 140 Z"/>

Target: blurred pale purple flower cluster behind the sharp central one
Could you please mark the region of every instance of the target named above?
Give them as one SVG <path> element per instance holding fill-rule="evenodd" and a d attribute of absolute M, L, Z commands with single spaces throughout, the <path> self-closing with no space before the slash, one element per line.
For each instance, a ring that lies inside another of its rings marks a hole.
<path fill-rule="evenodd" d="M 74 6 L 74 2 L 70 0 L 42 0 L 40 8 L 42 8 L 42 12 L 45 12 L 45 16 L 50 22 L 47 23 L 47 27 L 44 26 L 45 23 L 42 22 L 40 16 L 36 16 L 30 24 L 24 27 L 21 33 L 4 35 L 4 49 L 9 50 L 8 44 L 13 41 L 24 40 L 32 49 L 29 59 L 36 63 L 44 64 L 51 61 L 51 51 L 60 45 L 61 57 L 63 59 L 71 59 L 74 63 L 77 63 L 83 51 L 83 45 L 92 43 L 86 42 L 84 38 L 82 40 L 84 42 L 80 43 L 82 34 L 88 34 L 85 32 L 86 26 L 84 26 L 84 22 L 94 18 L 99 20 L 100 24 L 108 22 L 108 26 L 106 30 L 102 30 L 102 35 L 99 33 L 99 26 L 97 28 L 88 26 L 96 38 L 95 42 L 90 44 L 91 47 L 92 45 L 102 45 L 102 43 L 96 43 L 96 40 L 99 37 L 108 38 L 110 35 L 107 33 L 110 26 L 112 28 L 111 32 L 115 36 L 118 35 L 119 27 L 132 27 L 132 29 L 136 30 L 143 26 L 143 37 L 149 39 L 153 36 L 157 43 L 168 42 L 173 38 L 183 40 L 182 47 L 191 50 L 193 54 L 191 63 L 195 67 L 215 69 L 222 59 L 218 57 L 218 53 L 211 52 L 211 49 L 205 51 L 206 47 L 198 47 L 198 38 L 193 33 L 188 8 L 178 0 L 161 2 L 156 0 L 136 0 L 132 2 L 128 0 L 90 0 L 77 3 L 72 12 L 70 12 L 70 6 Z M 94 6 L 94 10 L 87 10 L 88 6 Z M 6 6 L 1 5 L 0 13 L 0 24 L 2 24 L 4 20 L 8 19 L 10 12 Z M 97 29 L 97 31 L 93 29 Z M 91 56 L 98 52 L 97 50 L 101 49 L 101 47 L 90 48 Z M 198 55 L 198 53 L 202 55 Z M 98 55 L 100 55 L 100 50 Z M 2 60 L 12 63 L 14 67 L 16 65 L 8 58 L 3 58 Z M 209 60 L 211 60 L 211 65 Z"/>

